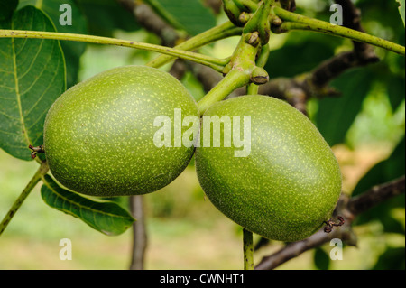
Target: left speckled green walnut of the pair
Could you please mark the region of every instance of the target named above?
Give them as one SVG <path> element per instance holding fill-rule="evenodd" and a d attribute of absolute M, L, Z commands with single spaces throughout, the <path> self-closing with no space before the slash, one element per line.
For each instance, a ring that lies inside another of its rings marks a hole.
<path fill-rule="evenodd" d="M 149 67 L 106 70 L 69 88 L 45 119 L 44 149 L 53 176 L 70 190 L 94 196 L 161 189 L 186 168 L 194 152 L 154 141 L 155 120 L 164 116 L 173 122 L 175 109 L 181 116 L 198 116 L 188 90 Z M 170 144 L 173 136 L 167 135 Z"/>

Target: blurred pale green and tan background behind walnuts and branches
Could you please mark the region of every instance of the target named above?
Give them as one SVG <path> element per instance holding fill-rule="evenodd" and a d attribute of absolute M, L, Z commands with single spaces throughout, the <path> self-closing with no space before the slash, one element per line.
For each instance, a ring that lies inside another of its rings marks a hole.
<path fill-rule="evenodd" d="M 88 2 L 78 1 L 78 3 Z M 356 3 L 362 8 L 363 24 L 368 33 L 404 45 L 404 27 L 394 1 L 360 0 Z M 325 1 L 298 0 L 297 4 L 298 13 L 328 20 L 328 5 Z M 124 14 L 121 8 L 116 6 L 115 8 L 118 10 L 112 14 L 115 16 Z M 99 9 L 106 13 L 106 9 L 103 10 L 102 7 Z M 93 12 L 92 15 L 95 14 L 97 13 Z M 103 25 L 95 25 L 97 20 L 91 18 L 89 33 L 106 34 L 107 31 L 117 38 L 159 43 L 159 39 L 152 33 L 137 25 L 124 27 L 116 18 L 120 19 L 115 17 L 113 20 L 110 19 L 111 23 L 106 21 Z M 222 13 L 216 16 L 217 23 L 223 23 L 225 19 Z M 120 29 L 115 29 L 116 26 Z M 232 53 L 237 41 L 238 38 L 234 37 L 211 45 L 203 51 L 225 57 Z M 339 51 L 351 49 L 351 42 L 313 33 L 291 33 L 272 35 L 271 47 L 268 66 L 271 78 L 291 77 L 313 69 L 321 60 L 326 60 Z M 328 111 L 331 105 L 337 114 L 332 121 L 342 124 L 334 129 L 332 125 L 323 127 L 320 124 L 319 129 L 333 146 L 344 176 L 344 192 L 348 194 L 354 191 L 363 192 L 372 184 L 380 183 L 374 183 L 378 179 L 368 177 L 368 173 L 377 171 L 383 166 L 383 161 L 391 160 L 389 166 L 398 163 L 404 166 L 404 140 L 401 142 L 404 139 L 405 124 L 404 58 L 381 49 L 376 49 L 376 52 L 382 58 L 380 63 L 355 72 L 350 71 L 333 83 L 340 90 L 346 89 L 346 95 L 349 97 L 358 98 L 354 101 L 359 103 L 359 109 L 353 114 L 346 109 L 346 106 L 351 104 L 343 104 L 340 99 L 331 100 L 335 101 L 332 104 L 328 103 L 328 99 L 311 101 L 309 104 L 310 116 L 316 124 L 328 122 L 320 118 L 321 114 L 318 111 L 321 108 Z M 78 80 L 88 79 L 102 70 L 116 66 L 144 64 L 155 55 L 146 51 L 88 44 L 78 59 Z M 170 66 L 166 66 L 163 70 L 169 68 Z M 356 86 L 348 86 L 349 79 L 354 78 L 354 75 L 361 79 L 362 77 L 370 79 L 365 91 L 358 90 Z M 204 96 L 203 88 L 190 72 L 185 75 L 182 82 L 195 98 Z M 356 93 L 358 95 L 353 95 Z M 345 126 L 344 122 L 340 122 L 343 117 L 353 119 Z M 393 151 L 397 151 L 394 149 L 400 143 L 403 143 L 398 149 L 400 153 L 392 154 Z M 401 152 L 403 158 L 399 156 Z M 0 151 L 0 218 L 3 218 L 13 205 L 37 168 L 37 163 L 23 162 Z M 393 175 L 388 177 L 391 176 Z M 106 237 L 88 228 L 77 218 L 49 208 L 41 198 L 40 187 L 41 185 L 38 185 L 32 190 L 31 195 L 0 237 L 0 269 L 129 267 L 131 230 L 119 237 Z M 193 163 L 190 163 L 176 181 L 162 190 L 144 195 L 143 199 L 148 233 L 146 269 L 243 267 L 241 228 L 221 215 L 205 197 L 198 185 Z M 122 200 L 123 205 L 126 205 L 126 200 Z M 404 269 L 404 223 L 404 196 L 401 196 L 383 203 L 381 209 L 365 214 L 364 218 L 355 223 L 357 246 L 345 246 L 343 260 L 329 261 L 328 264 L 320 265 L 320 258 L 328 255 L 332 248 L 326 244 L 321 246 L 321 249 L 310 250 L 300 255 L 278 269 Z M 72 241 L 70 261 L 60 260 L 59 253 L 62 247 L 59 243 L 62 238 L 69 238 Z M 254 240 L 258 241 L 259 237 L 254 236 Z M 255 262 L 261 260 L 263 255 L 272 254 L 281 246 L 282 243 L 277 241 L 263 246 L 255 253 Z"/>

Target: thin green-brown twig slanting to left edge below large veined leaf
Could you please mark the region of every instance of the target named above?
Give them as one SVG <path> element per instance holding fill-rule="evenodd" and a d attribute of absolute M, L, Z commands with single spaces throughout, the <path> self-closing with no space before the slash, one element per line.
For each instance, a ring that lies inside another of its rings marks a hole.
<path fill-rule="evenodd" d="M 28 182 L 23 192 L 20 194 L 17 200 L 14 201 L 12 208 L 8 210 L 7 214 L 5 215 L 5 218 L 3 218 L 2 222 L 0 223 L 0 236 L 5 231 L 5 228 L 7 227 L 8 223 L 10 223 L 17 210 L 20 209 L 21 205 L 23 204 L 23 201 L 27 198 L 32 189 L 41 180 L 42 176 L 48 172 L 48 169 L 49 169 L 48 164 L 46 162 L 42 162 L 40 168 L 37 170 L 37 172 L 35 172 L 31 181 Z"/>

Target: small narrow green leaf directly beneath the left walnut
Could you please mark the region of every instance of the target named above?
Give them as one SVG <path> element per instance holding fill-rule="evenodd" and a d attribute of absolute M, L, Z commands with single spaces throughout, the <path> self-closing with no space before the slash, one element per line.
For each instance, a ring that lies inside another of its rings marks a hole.
<path fill-rule="evenodd" d="M 49 175 L 44 177 L 41 196 L 52 208 L 79 218 L 91 228 L 108 236 L 124 233 L 135 221 L 118 204 L 89 200 L 77 193 L 64 190 Z"/>

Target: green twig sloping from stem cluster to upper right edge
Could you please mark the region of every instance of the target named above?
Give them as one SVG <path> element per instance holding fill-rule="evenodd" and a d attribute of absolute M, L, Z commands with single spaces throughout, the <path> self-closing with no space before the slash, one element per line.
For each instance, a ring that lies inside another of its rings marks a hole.
<path fill-rule="evenodd" d="M 283 33 L 291 30 L 309 30 L 317 33 L 325 33 L 351 39 L 356 42 L 364 42 L 388 51 L 405 55 L 405 48 L 399 44 L 389 42 L 382 38 L 362 33 L 343 26 L 309 18 L 300 14 L 289 12 L 281 7 L 273 7 L 273 13 L 281 17 L 284 22 L 278 28 L 273 29 L 274 33 Z"/>

